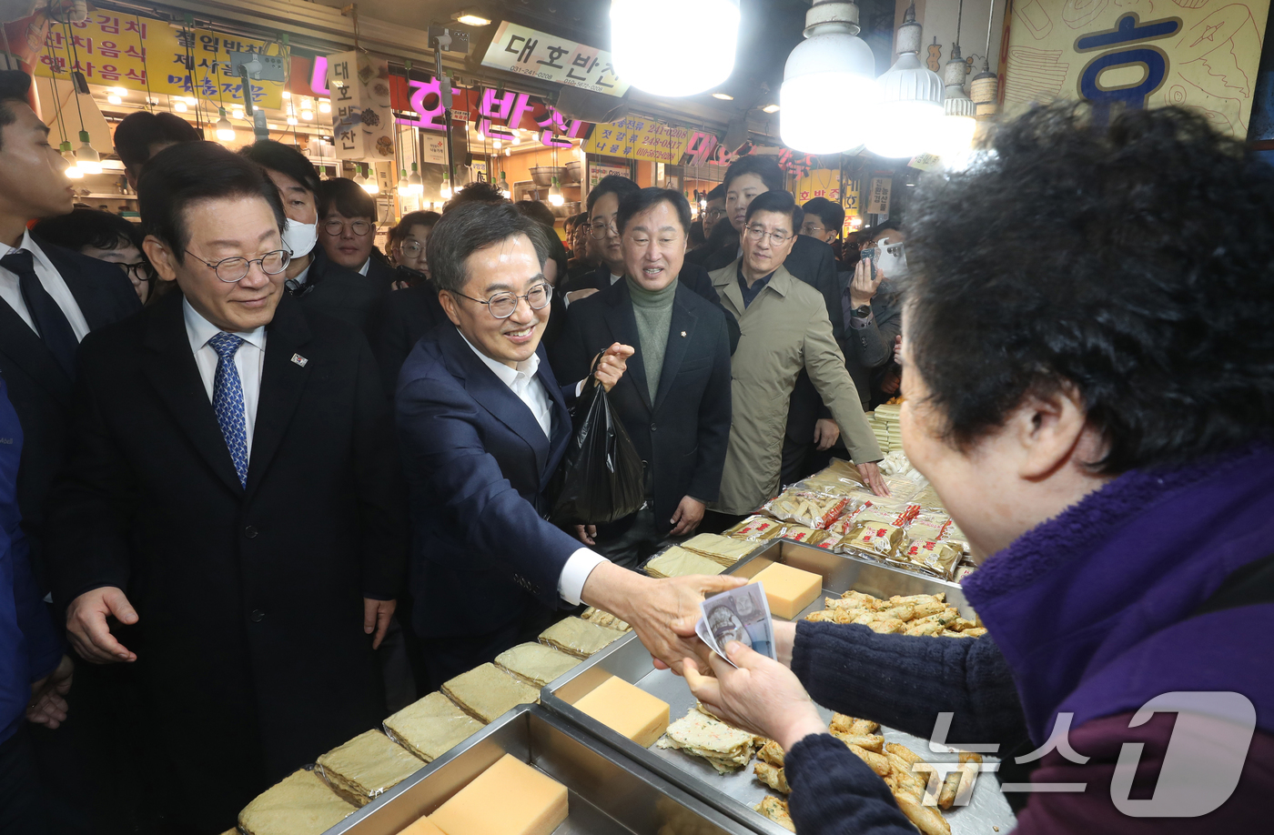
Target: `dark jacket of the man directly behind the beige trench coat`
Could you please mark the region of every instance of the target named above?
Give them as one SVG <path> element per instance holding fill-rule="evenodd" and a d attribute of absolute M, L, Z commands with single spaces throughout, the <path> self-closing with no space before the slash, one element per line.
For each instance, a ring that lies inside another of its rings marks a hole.
<path fill-rule="evenodd" d="M 717 249 L 703 266 L 711 272 L 730 266 L 738 257 L 739 244 L 731 241 Z M 832 335 L 837 342 L 842 342 L 845 317 L 841 314 L 840 283 L 836 276 L 836 255 L 832 252 L 832 247 L 809 235 L 799 234 L 792 244 L 792 251 L 784 261 L 784 266 L 795 277 L 819 291 L 827 304 L 827 316 L 832 319 Z M 812 444 L 814 442 L 814 424 L 820 418 L 831 416 L 831 410 L 823 405 L 818 391 L 809 381 L 809 374 L 801 370 L 800 375 L 796 377 L 796 387 L 792 389 L 787 407 L 787 439 L 796 444 Z"/>

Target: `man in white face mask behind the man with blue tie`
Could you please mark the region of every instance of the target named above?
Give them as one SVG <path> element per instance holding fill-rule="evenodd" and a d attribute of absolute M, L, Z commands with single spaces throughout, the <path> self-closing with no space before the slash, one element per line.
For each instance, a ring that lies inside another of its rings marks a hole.
<path fill-rule="evenodd" d="M 284 289 L 307 311 L 316 311 L 372 333 L 372 312 L 387 288 L 327 257 L 318 244 L 318 172 L 292 145 L 273 139 L 247 145 L 240 154 L 265 169 L 283 196 L 288 216 L 283 246 L 292 252 Z"/>

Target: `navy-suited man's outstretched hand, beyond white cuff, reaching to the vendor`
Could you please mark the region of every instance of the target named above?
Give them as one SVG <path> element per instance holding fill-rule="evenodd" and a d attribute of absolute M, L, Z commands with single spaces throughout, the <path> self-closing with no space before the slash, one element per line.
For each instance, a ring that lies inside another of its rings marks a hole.
<path fill-rule="evenodd" d="M 744 584 L 744 578 L 730 575 L 652 579 L 608 561 L 589 574 L 582 598 L 589 606 L 631 624 L 655 657 L 656 668 L 671 667 L 680 675 L 683 658 L 699 656 L 706 659 L 708 654 L 707 647 L 694 635 L 705 596 Z"/>

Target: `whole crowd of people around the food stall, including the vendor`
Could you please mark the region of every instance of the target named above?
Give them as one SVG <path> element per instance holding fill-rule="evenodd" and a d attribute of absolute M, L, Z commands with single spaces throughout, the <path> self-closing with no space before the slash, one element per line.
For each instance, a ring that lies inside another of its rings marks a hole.
<path fill-rule="evenodd" d="M 1181 112 L 1107 140 L 1045 108 L 1001 135 L 999 163 L 920 190 L 906 232 L 861 242 L 843 239 L 840 206 L 798 205 L 773 158 L 747 155 L 697 221 L 680 192 L 610 176 L 563 242 L 547 206 L 476 182 L 404 215 L 381 253 L 376 201 L 354 182 L 320 179 L 270 140 L 233 153 L 169 113 L 116 129 L 140 224 L 75 207 L 28 85 L 0 73 L 5 832 L 223 832 L 273 782 L 583 605 L 632 624 L 719 715 L 784 745 L 801 831 L 901 832 L 804 687 L 921 736 L 945 689 L 961 694 L 957 733 L 1009 747 L 1041 742 L 1082 692 L 1099 770 L 1127 736 L 1110 717 L 1134 706 L 1084 691 L 1088 659 L 1158 658 L 1246 564 L 1235 549 L 1270 533 L 1274 177 Z M 1170 185 L 1185 187 L 1156 178 L 1156 154 L 1210 165 L 1206 219 L 1166 209 Z M 1120 185 L 1059 202 L 1080 188 L 1068 164 Z M 1068 221 L 1084 234 L 1070 241 Z M 1205 286 L 1222 262 L 1226 281 Z M 908 454 L 975 551 L 1009 555 L 968 591 L 991 638 L 931 649 L 948 640 L 803 622 L 780 625 L 780 662 L 736 645 L 738 668 L 710 657 L 698 602 L 743 580 L 634 569 L 832 456 L 887 495 L 864 412 L 899 392 L 903 368 L 920 403 L 903 411 Z M 594 386 L 645 461 L 646 502 L 563 528 L 547 521 L 552 477 Z M 1215 507 L 1178 508 L 1182 486 Z M 1148 503 L 1158 528 L 1136 517 Z M 1068 540 L 1080 524 L 1083 542 Z M 1209 547 L 1102 568 L 1115 546 L 1094 531 L 1145 541 L 1163 526 Z M 1147 579 L 1159 570 L 1175 579 Z M 1033 600 L 1071 601 L 1093 577 L 1092 606 L 1124 614 L 1066 650 L 1061 681 L 1040 656 L 1080 615 L 1028 625 L 1036 610 L 1000 601 L 1026 580 L 1042 583 Z M 1153 626 L 1135 607 L 1148 587 L 1175 594 Z M 1250 624 L 1249 592 L 1191 634 Z M 1185 675 L 1157 684 L 1251 690 L 1242 671 L 1203 671 L 1201 640 L 1185 645 Z M 871 676 L 882 659 L 892 684 Z M 1270 731 L 1233 820 L 1269 783 Z M 1046 821 L 1112 808 L 1045 796 L 1020 820 L 1060 831 Z"/>

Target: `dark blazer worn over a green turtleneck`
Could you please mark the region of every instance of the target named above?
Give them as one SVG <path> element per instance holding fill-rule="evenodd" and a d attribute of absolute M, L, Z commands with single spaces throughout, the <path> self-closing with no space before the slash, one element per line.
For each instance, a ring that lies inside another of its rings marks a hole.
<path fill-rule="evenodd" d="M 638 347 L 628 360 L 628 370 L 610 389 L 610 403 L 646 462 L 655 526 L 668 533 L 682 496 L 715 502 L 721 486 L 730 440 L 725 313 L 687 286 L 676 288 L 654 403 L 627 281 L 571 305 L 554 360 L 558 378 L 583 379 L 592 358 L 614 342 Z M 618 531 L 631 523 L 629 517 L 608 527 Z"/>

